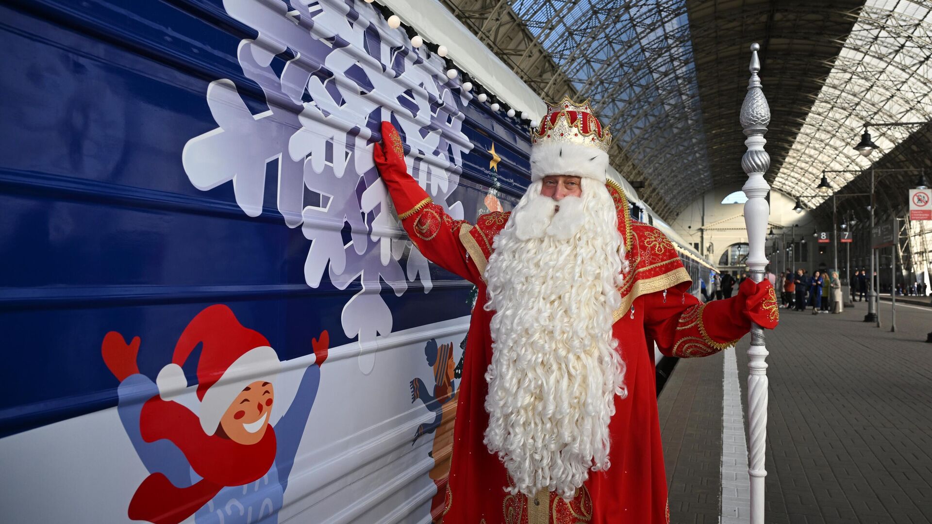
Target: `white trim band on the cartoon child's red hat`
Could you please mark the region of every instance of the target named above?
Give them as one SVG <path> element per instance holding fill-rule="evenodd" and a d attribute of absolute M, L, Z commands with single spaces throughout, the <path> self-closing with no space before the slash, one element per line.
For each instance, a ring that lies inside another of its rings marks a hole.
<path fill-rule="evenodd" d="M 273 382 L 279 374 L 279 355 L 268 346 L 254 348 L 240 355 L 204 393 L 200 401 L 200 427 L 206 434 L 214 434 L 226 409 L 242 393 L 243 388 L 256 380 Z"/>

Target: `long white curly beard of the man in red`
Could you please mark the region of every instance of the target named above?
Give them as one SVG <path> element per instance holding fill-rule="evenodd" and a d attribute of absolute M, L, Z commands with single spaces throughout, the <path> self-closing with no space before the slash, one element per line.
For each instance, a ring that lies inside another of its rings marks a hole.
<path fill-rule="evenodd" d="M 531 184 L 488 260 L 486 310 L 496 313 L 484 442 L 512 493 L 569 499 L 590 469 L 608 469 L 614 396 L 627 394 L 611 338 L 624 241 L 608 189 L 582 186 L 582 197 L 555 202 Z"/>

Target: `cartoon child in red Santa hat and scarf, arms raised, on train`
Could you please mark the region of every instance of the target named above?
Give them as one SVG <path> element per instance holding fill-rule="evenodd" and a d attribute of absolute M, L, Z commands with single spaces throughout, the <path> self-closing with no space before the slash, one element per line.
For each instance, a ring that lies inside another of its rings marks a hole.
<path fill-rule="evenodd" d="M 187 324 L 155 382 L 136 365 L 140 346 L 139 337 L 127 344 L 115 331 L 102 345 L 103 361 L 120 381 L 120 421 L 150 474 L 128 516 L 158 524 L 192 515 L 199 524 L 277 521 L 320 385 L 327 332 L 312 339 L 314 362 L 274 427 L 278 354 L 226 305 L 201 310 Z M 185 391 L 182 365 L 198 346 L 198 386 Z"/>

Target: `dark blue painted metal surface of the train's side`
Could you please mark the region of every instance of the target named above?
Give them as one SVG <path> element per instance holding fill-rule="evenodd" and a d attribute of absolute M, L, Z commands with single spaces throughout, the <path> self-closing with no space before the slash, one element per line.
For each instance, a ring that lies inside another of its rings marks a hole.
<path fill-rule="evenodd" d="M 144 344 L 160 348 L 140 352 L 152 379 L 185 324 L 216 302 L 265 334 L 282 360 L 308 352 L 298 339 L 306 333 L 349 341 L 335 326 L 360 286 L 305 283 L 308 240 L 281 224 L 275 178 L 251 218 L 231 184 L 202 192 L 185 176 L 185 143 L 216 127 L 204 99 L 212 80 L 232 79 L 254 114 L 267 109 L 236 57 L 252 29 L 219 1 L 194 0 L 14 3 L 0 20 L 0 435 L 114 406 L 117 381 L 100 358 L 113 329 L 145 333 Z M 367 127 L 377 131 L 379 120 Z M 527 184 L 523 132 L 472 105 L 464 131 L 475 147 L 454 200 L 482 206 L 493 141 L 505 159 L 495 173 L 502 198 L 514 200 Z M 469 313 L 466 283 L 435 266 L 432 278 L 427 295 L 382 290 L 394 330 Z M 298 321 L 302 329 L 290 330 Z"/>

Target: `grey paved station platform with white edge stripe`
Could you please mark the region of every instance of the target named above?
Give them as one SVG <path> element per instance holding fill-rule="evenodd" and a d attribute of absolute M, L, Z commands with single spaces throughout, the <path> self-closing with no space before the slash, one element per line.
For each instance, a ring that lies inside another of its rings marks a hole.
<path fill-rule="evenodd" d="M 766 522 L 932 518 L 932 309 L 781 310 L 767 337 Z M 747 522 L 747 348 L 680 359 L 658 398 L 670 521 Z"/>

